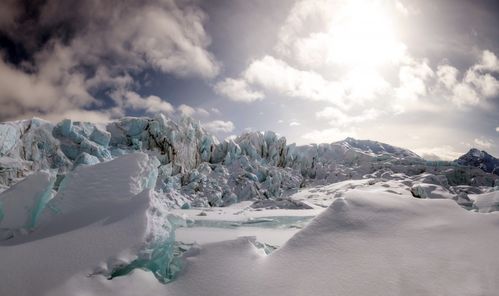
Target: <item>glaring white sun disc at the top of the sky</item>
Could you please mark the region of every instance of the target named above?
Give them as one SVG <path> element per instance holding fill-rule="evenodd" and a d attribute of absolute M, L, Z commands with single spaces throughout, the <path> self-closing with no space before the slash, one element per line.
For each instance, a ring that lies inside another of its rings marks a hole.
<path fill-rule="evenodd" d="M 347 67 L 375 68 L 397 62 L 405 51 L 383 3 L 348 1 L 328 25 L 327 61 Z"/>

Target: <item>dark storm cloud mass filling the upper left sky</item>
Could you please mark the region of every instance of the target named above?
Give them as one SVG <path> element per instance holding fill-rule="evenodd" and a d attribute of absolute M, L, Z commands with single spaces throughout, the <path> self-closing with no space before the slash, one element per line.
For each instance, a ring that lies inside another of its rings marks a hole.
<path fill-rule="evenodd" d="M 103 90 L 114 100 L 107 113 L 150 110 L 158 98 L 137 99 L 134 74 L 218 73 L 206 49 L 206 16 L 195 3 L 6 1 L 0 10 L 0 120 L 99 106 L 94 94 Z"/>

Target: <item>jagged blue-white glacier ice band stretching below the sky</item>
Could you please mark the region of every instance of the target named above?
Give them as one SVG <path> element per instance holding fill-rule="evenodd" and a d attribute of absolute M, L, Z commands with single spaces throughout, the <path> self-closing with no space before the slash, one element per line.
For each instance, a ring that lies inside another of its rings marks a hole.
<path fill-rule="evenodd" d="M 124 117 L 107 125 L 72 120 L 53 125 L 32 119 L 1 126 L 6 135 L 0 156 L 3 188 L 33 171 L 56 169 L 65 176 L 82 164 L 95 165 L 138 151 L 158 161 L 157 172 L 144 181 L 146 187 L 175 199 L 171 204 L 178 207 L 283 198 L 310 185 L 400 174 L 416 183 L 443 186 L 454 198 L 459 192 L 450 187 L 490 187 L 499 182 L 499 177 L 478 167 L 427 162 L 409 150 L 376 141 L 347 138 L 296 146 L 271 131 L 219 141 L 189 118 L 162 114 Z"/>

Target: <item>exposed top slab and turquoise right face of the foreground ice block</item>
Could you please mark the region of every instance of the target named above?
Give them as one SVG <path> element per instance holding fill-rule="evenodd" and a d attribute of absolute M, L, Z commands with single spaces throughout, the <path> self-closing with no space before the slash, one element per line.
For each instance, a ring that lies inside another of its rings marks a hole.
<path fill-rule="evenodd" d="M 59 215 L 70 215 L 80 211 L 113 203 L 145 199 L 147 224 L 143 246 L 136 251 L 137 259 L 124 266 L 113 268 L 109 276 L 116 276 L 134 268 L 151 270 L 158 279 L 169 281 L 178 271 L 174 262 L 174 228 L 182 225 L 183 219 L 168 213 L 168 203 L 161 201 L 153 191 L 158 176 L 159 161 L 145 153 L 132 153 L 112 161 L 91 167 L 79 167 L 69 173 L 47 211 L 48 221 Z M 82 194 L 82 188 L 85 188 Z"/>

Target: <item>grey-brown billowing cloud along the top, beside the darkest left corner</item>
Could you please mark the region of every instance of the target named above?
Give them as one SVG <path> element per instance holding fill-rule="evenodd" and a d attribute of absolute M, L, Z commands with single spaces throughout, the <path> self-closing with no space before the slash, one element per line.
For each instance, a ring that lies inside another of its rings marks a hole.
<path fill-rule="evenodd" d="M 50 0 L 41 7 L 37 25 L 78 27 L 68 46 L 82 62 L 107 60 L 129 69 L 152 66 L 178 76 L 213 77 L 218 65 L 206 50 L 205 19 L 198 7 L 174 0 Z"/>

